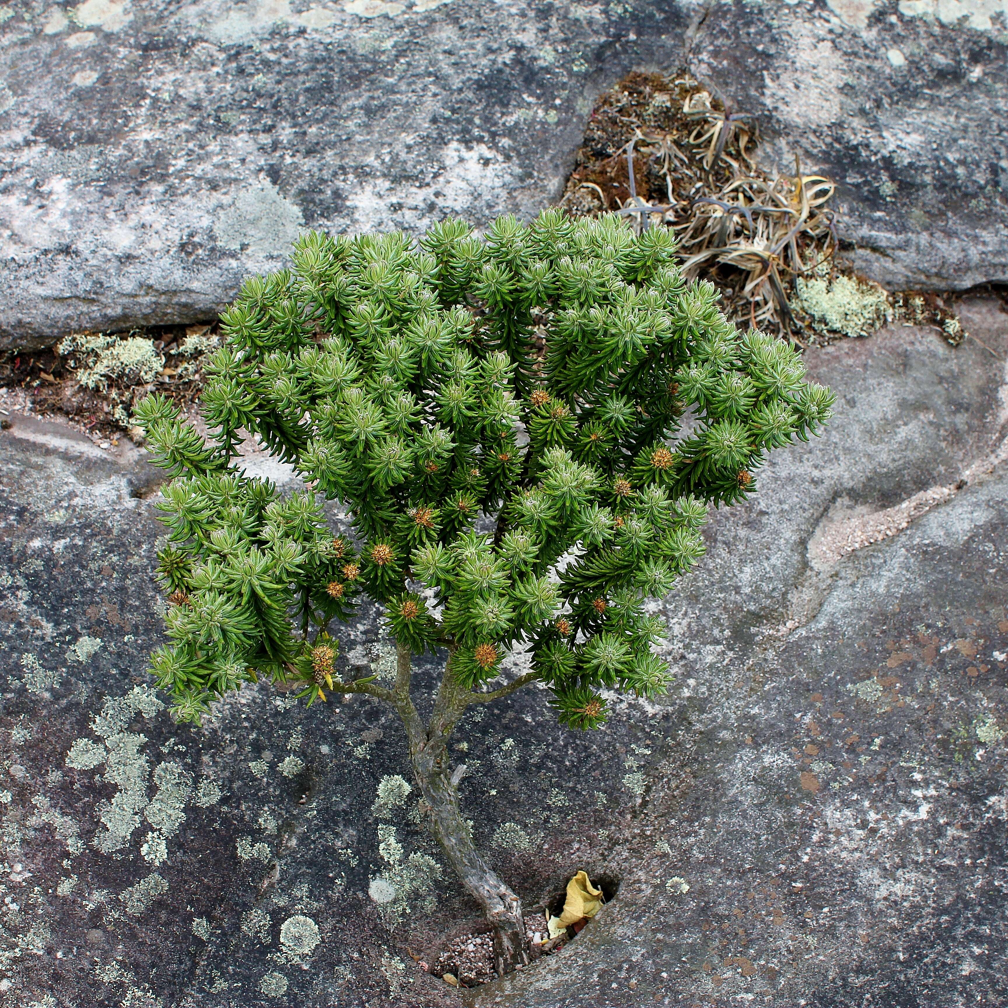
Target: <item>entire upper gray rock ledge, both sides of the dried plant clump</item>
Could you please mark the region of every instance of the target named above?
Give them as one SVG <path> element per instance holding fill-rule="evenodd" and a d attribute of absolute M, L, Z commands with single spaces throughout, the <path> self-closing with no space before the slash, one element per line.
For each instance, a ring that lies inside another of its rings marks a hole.
<path fill-rule="evenodd" d="M 1005 0 L 10 0 L 0 347 L 207 320 L 309 227 L 557 197 L 596 96 L 687 67 L 840 183 L 890 287 L 1008 278 Z"/>

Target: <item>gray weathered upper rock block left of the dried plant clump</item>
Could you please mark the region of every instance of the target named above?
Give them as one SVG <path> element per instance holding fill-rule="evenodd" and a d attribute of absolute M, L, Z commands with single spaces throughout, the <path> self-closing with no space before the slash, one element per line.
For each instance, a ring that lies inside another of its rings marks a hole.
<path fill-rule="evenodd" d="M 674 64 L 688 20 L 490 0 L 9 10 L 8 341 L 212 318 L 309 227 L 534 214 L 600 88 Z"/>

